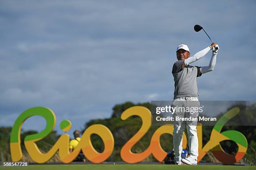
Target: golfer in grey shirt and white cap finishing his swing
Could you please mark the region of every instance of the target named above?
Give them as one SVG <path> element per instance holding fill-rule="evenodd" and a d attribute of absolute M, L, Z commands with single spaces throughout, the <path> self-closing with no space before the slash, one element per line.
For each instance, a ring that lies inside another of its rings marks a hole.
<path fill-rule="evenodd" d="M 189 64 L 199 60 L 206 53 L 212 50 L 212 58 L 208 66 L 190 66 Z M 197 52 L 194 56 L 190 56 L 189 48 L 185 44 L 181 44 L 177 47 L 177 59 L 172 68 L 172 75 L 174 77 L 174 102 L 173 107 L 200 107 L 198 101 L 197 90 L 197 77 L 210 72 L 214 69 L 216 63 L 216 56 L 218 54 L 218 44 L 212 43 L 202 51 Z M 198 112 L 174 112 L 174 117 L 198 117 Z M 185 125 L 187 125 L 187 133 L 189 140 L 189 155 L 186 159 L 182 159 L 182 134 L 184 132 Z M 181 165 L 183 162 L 187 165 L 197 165 L 198 157 L 198 139 L 197 139 L 197 121 L 174 121 L 173 131 L 173 147 L 175 152 L 174 162 L 177 165 Z"/>

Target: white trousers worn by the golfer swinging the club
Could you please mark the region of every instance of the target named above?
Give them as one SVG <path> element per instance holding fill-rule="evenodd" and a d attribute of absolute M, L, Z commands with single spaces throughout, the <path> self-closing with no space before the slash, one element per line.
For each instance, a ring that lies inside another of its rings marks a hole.
<path fill-rule="evenodd" d="M 200 102 L 197 101 L 187 101 L 187 100 L 180 100 L 175 99 L 173 102 L 173 107 L 200 107 Z M 198 117 L 197 113 L 174 113 L 175 116 L 184 117 L 184 115 L 192 115 L 192 117 Z M 182 154 L 182 134 L 185 129 L 185 124 L 187 125 L 187 134 L 188 134 L 188 147 L 189 147 L 189 154 L 190 157 L 193 157 L 195 160 L 197 160 L 198 157 L 198 138 L 197 138 L 197 129 L 196 124 L 197 122 L 186 122 L 186 121 L 175 121 L 174 122 L 174 130 L 173 130 L 173 147 L 174 147 L 174 153 L 175 157 L 174 159 L 178 162 L 180 161 L 181 154 Z M 185 149 L 185 148 L 184 148 Z"/>

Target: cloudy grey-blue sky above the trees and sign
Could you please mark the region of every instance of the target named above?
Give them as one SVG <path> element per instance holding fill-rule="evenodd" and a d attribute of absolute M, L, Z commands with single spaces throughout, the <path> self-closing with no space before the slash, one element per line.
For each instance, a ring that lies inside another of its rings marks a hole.
<path fill-rule="evenodd" d="M 81 129 L 125 101 L 172 100 L 176 47 L 220 51 L 197 79 L 200 100 L 256 100 L 256 2 L 0 0 L 0 126 L 24 110 L 49 107 L 56 130 Z M 195 62 L 207 66 L 211 53 Z M 24 129 L 44 129 L 41 117 Z"/>

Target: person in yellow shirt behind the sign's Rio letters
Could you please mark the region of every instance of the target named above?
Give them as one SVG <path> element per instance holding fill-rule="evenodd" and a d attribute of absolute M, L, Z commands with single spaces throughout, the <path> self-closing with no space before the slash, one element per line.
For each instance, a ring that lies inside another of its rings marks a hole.
<path fill-rule="evenodd" d="M 69 152 L 70 153 L 77 147 L 79 141 L 81 140 L 79 130 L 75 130 L 73 132 L 73 134 L 74 134 L 74 139 L 72 139 L 69 142 Z M 74 159 L 74 161 L 83 161 L 83 162 L 85 162 L 85 156 L 84 156 L 82 150 L 79 152 L 79 155 L 76 157 L 76 159 Z"/>

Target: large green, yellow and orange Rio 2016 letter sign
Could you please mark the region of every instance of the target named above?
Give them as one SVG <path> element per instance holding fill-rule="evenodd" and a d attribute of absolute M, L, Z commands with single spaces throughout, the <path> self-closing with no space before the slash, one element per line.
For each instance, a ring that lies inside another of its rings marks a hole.
<path fill-rule="evenodd" d="M 246 154 L 247 150 L 247 140 L 246 137 L 238 131 L 228 130 L 224 132 L 220 132 L 224 124 L 236 114 L 239 113 L 239 108 L 234 107 L 226 112 L 223 117 L 221 117 L 218 122 L 215 124 L 212 129 L 210 140 L 203 147 L 202 146 L 202 126 L 197 125 L 197 136 L 199 141 L 199 156 L 197 162 L 207 154 L 209 150 L 212 151 L 212 154 L 220 161 L 225 164 L 232 164 L 238 162 L 243 158 Z M 62 134 L 59 139 L 56 141 L 54 146 L 47 153 L 42 153 L 37 145 L 36 141 L 43 139 L 55 127 L 56 117 L 54 112 L 51 109 L 46 107 L 33 107 L 24 111 L 20 116 L 16 119 L 10 137 L 10 152 L 11 157 L 14 162 L 19 161 L 22 158 L 22 150 L 20 146 L 20 130 L 22 124 L 32 116 L 41 116 L 46 120 L 46 128 L 37 134 L 31 134 L 25 137 L 24 145 L 30 157 L 37 163 L 44 163 L 51 159 L 54 154 L 59 151 L 59 157 L 61 162 L 69 163 L 74 160 L 79 154 L 80 150 L 84 153 L 88 160 L 94 163 L 100 163 L 108 159 L 108 157 L 112 154 L 114 149 L 114 137 L 110 132 L 108 127 L 105 127 L 102 124 L 94 124 L 88 127 L 84 133 L 82 134 L 81 140 L 77 147 L 74 149 L 72 153 L 69 153 L 69 135 Z M 151 127 L 151 112 L 146 107 L 135 106 L 131 107 L 121 115 L 121 119 L 125 120 L 131 116 L 138 116 L 142 119 L 141 128 L 139 131 L 125 143 L 123 148 L 121 149 L 120 155 L 121 158 L 128 163 L 136 163 L 146 159 L 149 155 L 153 154 L 154 157 L 161 162 L 166 157 L 167 153 L 162 149 L 160 144 L 160 137 L 162 134 L 172 134 L 173 125 L 163 125 L 156 129 L 154 132 L 150 145 L 147 150 L 141 153 L 133 153 L 131 152 L 131 148 L 135 145 L 146 132 Z M 60 123 L 60 128 L 62 131 L 67 132 L 71 128 L 71 122 L 69 120 L 63 120 Z M 97 134 L 101 137 L 105 149 L 102 153 L 97 152 L 92 146 L 92 142 L 90 139 L 91 134 Z M 220 146 L 220 142 L 224 140 L 232 140 L 236 142 L 238 145 L 238 152 L 235 155 L 228 155 L 224 152 L 222 147 Z M 183 148 L 187 145 L 186 135 L 183 133 Z"/>

